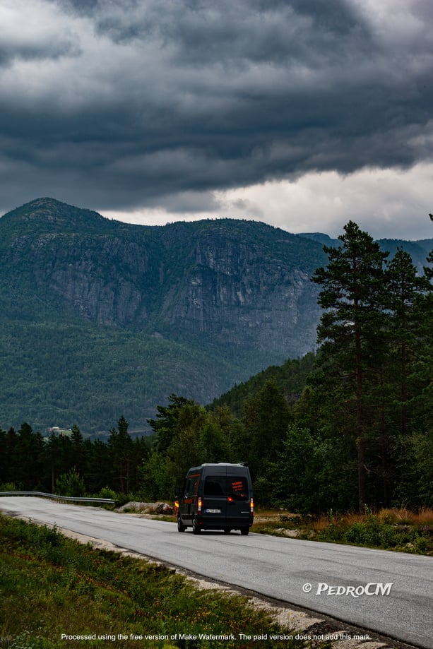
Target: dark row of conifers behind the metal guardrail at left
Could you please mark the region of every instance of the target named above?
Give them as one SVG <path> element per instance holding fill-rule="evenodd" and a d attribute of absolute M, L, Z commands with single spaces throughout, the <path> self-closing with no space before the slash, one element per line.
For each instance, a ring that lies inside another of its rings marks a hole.
<path fill-rule="evenodd" d="M 107 443 L 85 439 L 78 426 L 45 438 L 25 423 L 0 429 L 0 490 L 122 498 L 140 491 L 148 455 L 146 438 L 132 439 L 124 417 Z"/>

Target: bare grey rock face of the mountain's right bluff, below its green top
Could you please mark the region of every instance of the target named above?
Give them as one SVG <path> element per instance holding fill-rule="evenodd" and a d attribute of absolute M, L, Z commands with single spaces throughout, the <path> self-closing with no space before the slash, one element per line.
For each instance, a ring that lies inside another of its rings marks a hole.
<path fill-rule="evenodd" d="M 312 349 L 318 317 L 306 268 L 223 237 L 196 242 L 162 306 L 165 328 L 286 357 Z"/>

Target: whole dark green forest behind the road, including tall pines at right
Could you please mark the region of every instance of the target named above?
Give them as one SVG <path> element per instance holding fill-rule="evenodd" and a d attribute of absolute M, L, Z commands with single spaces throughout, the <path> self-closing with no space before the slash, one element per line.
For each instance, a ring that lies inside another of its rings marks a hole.
<path fill-rule="evenodd" d="M 186 470 L 248 462 L 261 506 L 302 514 L 433 506 L 433 253 L 420 274 L 354 222 L 312 281 L 318 349 L 208 406 L 172 394 L 132 439 L 0 429 L 0 490 L 172 500 Z M 206 371 L 212 372 L 212 367 Z M 121 409 L 121 405 L 120 405 Z"/>

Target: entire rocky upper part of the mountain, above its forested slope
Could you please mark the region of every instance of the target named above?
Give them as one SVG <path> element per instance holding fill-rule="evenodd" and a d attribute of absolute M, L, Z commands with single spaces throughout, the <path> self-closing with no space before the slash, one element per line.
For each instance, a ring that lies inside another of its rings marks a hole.
<path fill-rule="evenodd" d="M 316 242 L 247 221 L 135 227 L 51 199 L 25 208 L 8 261 L 24 264 L 57 308 L 272 362 L 314 347 L 319 309 L 309 277 L 323 261 Z"/>

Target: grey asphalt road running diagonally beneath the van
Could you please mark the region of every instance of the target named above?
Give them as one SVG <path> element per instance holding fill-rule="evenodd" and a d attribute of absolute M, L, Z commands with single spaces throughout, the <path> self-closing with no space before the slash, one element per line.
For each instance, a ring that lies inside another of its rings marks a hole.
<path fill-rule="evenodd" d="M 253 532 L 179 534 L 173 523 L 34 497 L 1 497 L 0 508 L 433 649 L 433 559 L 427 556 Z"/>

